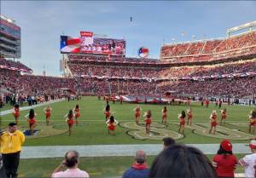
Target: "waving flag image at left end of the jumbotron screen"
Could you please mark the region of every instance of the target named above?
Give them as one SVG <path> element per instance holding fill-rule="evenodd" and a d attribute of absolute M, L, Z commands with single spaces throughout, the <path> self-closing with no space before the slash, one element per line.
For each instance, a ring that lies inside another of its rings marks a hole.
<path fill-rule="evenodd" d="M 61 36 L 62 53 L 79 53 L 81 40 L 79 37 Z"/>

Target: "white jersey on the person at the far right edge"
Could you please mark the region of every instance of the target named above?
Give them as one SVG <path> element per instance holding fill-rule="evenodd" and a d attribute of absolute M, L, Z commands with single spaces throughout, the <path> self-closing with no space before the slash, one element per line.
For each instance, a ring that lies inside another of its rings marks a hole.
<path fill-rule="evenodd" d="M 246 177 L 254 177 L 256 171 L 256 169 L 254 169 L 254 166 L 256 165 L 256 153 L 249 154 L 244 158 L 241 158 L 239 160 L 239 163 L 241 164 L 242 167 L 244 167 L 244 175 Z"/>

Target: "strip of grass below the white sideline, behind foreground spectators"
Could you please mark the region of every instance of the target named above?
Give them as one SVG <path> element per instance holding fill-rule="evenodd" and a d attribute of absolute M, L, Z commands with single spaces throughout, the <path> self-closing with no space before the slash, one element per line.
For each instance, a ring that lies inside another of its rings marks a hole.
<path fill-rule="evenodd" d="M 213 156 L 207 155 L 210 160 Z M 236 154 L 237 159 L 243 156 Z M 152 164 L 154 158 L 155 156 L 147 157 L 148 166 Z M 61 164 L 61 160 L 61 158 L 21 159 L 19 177 L 50 177 L 55 167 Z M 123 175 L 132 163 L 132 157 L 80 158 L 79 168 L 87 171 L 90 177 L 113 177 Z M 243 169 L 238 165 L 236 173 L 242 172 Z"/>

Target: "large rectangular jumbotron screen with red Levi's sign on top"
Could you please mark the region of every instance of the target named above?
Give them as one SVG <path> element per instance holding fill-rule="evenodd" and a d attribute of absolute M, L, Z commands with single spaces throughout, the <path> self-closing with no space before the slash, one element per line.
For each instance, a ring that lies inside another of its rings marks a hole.
<path fill-rule="evenodd" d="M 61 54 L 124 55 L 125 40 L 94 37 L 93 32 L 80 32 L 80 37 L 61 36 Z"/>

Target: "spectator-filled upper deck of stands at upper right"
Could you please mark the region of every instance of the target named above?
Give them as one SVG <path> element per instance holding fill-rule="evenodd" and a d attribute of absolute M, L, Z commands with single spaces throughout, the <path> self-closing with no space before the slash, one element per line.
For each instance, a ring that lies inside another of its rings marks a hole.
<path fill-rule="evenodd" d="M 255 45 L 256 32 L 248 32 L 225 39 L 167 44 L 161 49 L 161 58 L 174 63 L 224 60 L 255 54 Z"/>

